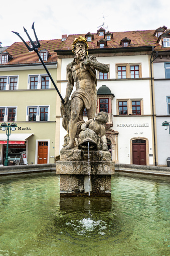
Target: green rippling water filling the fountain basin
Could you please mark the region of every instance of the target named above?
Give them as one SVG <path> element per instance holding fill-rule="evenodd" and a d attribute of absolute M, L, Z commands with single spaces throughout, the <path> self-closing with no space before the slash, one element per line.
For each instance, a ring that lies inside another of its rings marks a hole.
<path fill-rule="evenodd" d="M 170 255 L 170 178 L 115 174 L 112 201 L 60 201 L 59 183 L 0 177 L 0 256 Z"/>

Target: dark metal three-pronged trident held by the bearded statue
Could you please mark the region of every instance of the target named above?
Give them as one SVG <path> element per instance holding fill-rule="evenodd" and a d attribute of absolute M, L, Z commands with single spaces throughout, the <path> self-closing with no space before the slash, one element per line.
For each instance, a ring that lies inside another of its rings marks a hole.
<path fill-rule="evenodd" d="M 60 98 L 61 98 L 61 100 L 62 100 L 62 103 L 64 104 L 63 97 L 61 96 L 61 94 L 60 94 L 60 92 L 59 92 L 59 90 L 58 90 L 58 88 L 57 88 L 57 86 L 56 86 L 56 84 L 55 84 L 55 82 L 54 82 L 54 80 L 53 80 L 51 74 L 49 73 L 49 71 L 48 71 L 48 69 L 47 69 L 47 67 L 46 67 L 46 65 L 45 65 L 45 63 L 44 63 L 42 57 L 40 56 L 39 51 L 38 51 L 38 48 L 41 46 L 41 44 L 40 44 L 40 42 L 39 42 L 39 40 L 38 40 L 38 38 L 37 38 L 37 35 L 36 35 L 36 31 L 35 31 L 35 28 L 34 28 L 34 22 L 33 22 L 33 25 L 32 25 L 32 29 L 33 29 L 34 35 L 35 35 L 35 37 L 36 37 L 37 45 L 34 44 L 33 40 L 31 39 L 31 37 L 29 36 L 27 30 L 26 30 L 25 27 L 24 27 L 24 31 L 26 32 L 28 38 L 30 39 L 30 42 L 31 42 L 31 44 L 32 44 L 33 47 L 30 47 L 30 46 L 24 41 L 24 39 L 20 36 L 20 34 L 19 34 L 18 32 L 14 32 L 14 31 L 12 31 L 12 32 L 15 33 L 17 36 L 19 36 L 19 37 L 21 38 L 21 40 L 23 41 L 23 43 L 25 44 L 25 46 L 27 47 L 27 49 L 28 49 L 29 51 L 35 51 L 35 52 L 37 53 L 37 55 L 39 56 L 39 59 L 41 60 L 41 63 L 43 64 L 43 66 L 44 66 L 46 72 L 48 73 L 50 79 L 52 80 L 52 83 L 53 83 L 53 85 L 54 85 L 54 87 L 55 87 L 55 89 L 56 89 L 58 95 L 60 96 Z"/>

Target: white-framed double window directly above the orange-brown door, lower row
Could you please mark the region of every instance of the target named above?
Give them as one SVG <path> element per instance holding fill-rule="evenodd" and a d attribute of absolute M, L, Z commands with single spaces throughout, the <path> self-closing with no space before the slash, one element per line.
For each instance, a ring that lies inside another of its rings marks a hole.
<path fill-rule="evenodd" d="M 49 106 L 28 106 L 26 121 L 50 121 Z"/>

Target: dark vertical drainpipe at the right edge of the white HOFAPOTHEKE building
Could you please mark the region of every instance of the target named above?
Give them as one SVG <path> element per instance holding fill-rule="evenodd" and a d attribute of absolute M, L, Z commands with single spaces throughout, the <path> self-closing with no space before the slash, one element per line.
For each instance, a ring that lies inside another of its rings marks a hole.
<path fill-rule="evenodd" d="M 154 54 L 154 47 L 152 46 L 152 54 L 150 57 L 150 75 L 151 75 L 151 99 L 152 99 L 152 121 L 153 121 L 153 147 L 154 147 L 154 165 L 156 166 L 156 144 L 155 144 L 155 128 L 154 128 L 154 108 L 153 108 L 153 77 L 152 77 L 152 62 L 157 58 L 157 51 L 156 51 L 156 56 L 152 60 L 153 54 Z"/>

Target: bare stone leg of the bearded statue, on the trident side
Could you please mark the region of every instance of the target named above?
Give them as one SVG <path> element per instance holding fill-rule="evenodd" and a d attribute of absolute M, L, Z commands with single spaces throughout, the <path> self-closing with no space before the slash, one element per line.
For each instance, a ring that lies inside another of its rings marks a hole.
<path fill-rule="evenodd" d="M 77 120 L 79 118 L 80 110 L 83 108 L 83 101 L 78 98 L 74 97 L 71 102 L 71 118 L 69 121 L 69 136 L 70 141 L 67 146 L 64 147 L 64 149 L 70 149 L 74 147 L 74 139 L 76 137 L 77 133 Z"/>

